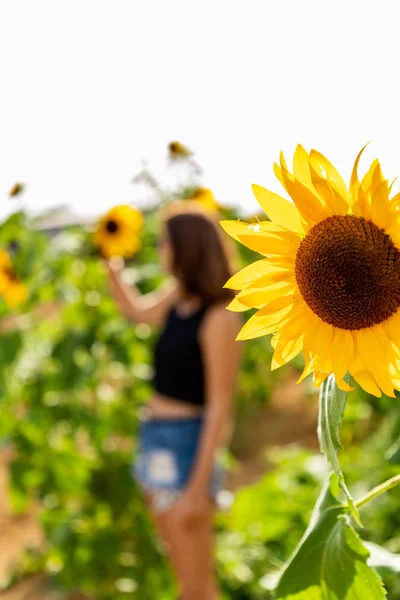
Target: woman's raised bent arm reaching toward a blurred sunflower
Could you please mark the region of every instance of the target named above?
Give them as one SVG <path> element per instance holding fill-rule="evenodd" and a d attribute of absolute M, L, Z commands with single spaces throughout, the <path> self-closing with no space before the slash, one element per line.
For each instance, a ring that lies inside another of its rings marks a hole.
<path fill-rule="evenodd" d="M 177 296 L 177 287 L 171 284 L 151 294 L 142 296 L 139 290 L 128 285 L 122 278 L 121 268 L 106 262 L 111 294 L 125 317 L 137 323 L 158 325 Z"/>

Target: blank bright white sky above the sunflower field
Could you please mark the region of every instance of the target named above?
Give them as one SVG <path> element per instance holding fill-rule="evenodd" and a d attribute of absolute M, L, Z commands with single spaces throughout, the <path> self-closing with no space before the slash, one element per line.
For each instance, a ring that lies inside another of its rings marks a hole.
<path fill-rule="evenodd" d="M 349 176 L 371 141 L 400 175 L 396 0 L 0 0 L 0 214 L 92 214 L 166 144 L 196 152 L 222 203 L 256 210 L 297 142 Z"/>

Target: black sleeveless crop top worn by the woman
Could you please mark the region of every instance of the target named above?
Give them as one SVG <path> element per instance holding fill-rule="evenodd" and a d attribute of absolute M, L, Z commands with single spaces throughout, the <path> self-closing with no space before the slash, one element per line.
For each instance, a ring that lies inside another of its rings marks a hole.
<path fill-rule="evenodd" d="M 163 396 L 205 404 L 204 366 L 198 331 L 207 307 L 189 317 L 173 308 L 154 352 L 154 387 Z"/>

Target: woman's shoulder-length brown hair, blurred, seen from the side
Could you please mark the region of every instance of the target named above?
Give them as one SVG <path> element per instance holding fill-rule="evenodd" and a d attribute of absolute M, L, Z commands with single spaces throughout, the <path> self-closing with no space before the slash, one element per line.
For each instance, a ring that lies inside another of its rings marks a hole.
<path fill-rule="evenodd" d="M 223 286 L 231 277 L 227 250 L 213 218 L 197 210 L 170 214 L 165 227 L 173 250 L 173 272 L 186 294 L 204 302 L 229 302 Z"/>

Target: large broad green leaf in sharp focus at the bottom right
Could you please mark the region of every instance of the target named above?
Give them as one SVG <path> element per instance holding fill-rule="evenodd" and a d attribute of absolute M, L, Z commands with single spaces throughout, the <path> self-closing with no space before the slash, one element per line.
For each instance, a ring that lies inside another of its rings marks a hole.
<path fill-rule="evenodd" d="M 279 580 L 276 600 L 386 598 L 380 577 L 367 564 L 369 551 L 351 526 L 348 507 L 337 500 L 333 487 L 323 489 Z"/>

